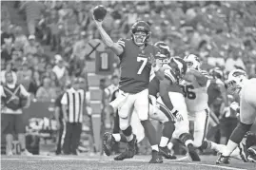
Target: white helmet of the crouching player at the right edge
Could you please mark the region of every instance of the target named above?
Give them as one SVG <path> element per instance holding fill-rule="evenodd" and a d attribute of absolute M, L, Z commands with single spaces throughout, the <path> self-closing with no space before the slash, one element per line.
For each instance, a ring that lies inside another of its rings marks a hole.
<path fill-rule="evenodd" d="M 227 90 L 231 94 L 239 94 L 245 83 L 245 80 L 247 80 L 247 75 L 246 71 L 243 69 L 234 69 L 230 71 L 226 81 Z"/>

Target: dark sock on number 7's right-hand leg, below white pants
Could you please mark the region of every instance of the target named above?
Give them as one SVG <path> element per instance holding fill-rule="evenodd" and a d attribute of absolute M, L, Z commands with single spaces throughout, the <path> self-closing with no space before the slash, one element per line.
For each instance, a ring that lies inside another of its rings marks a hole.
<path fill-rule="evenodd" d="M 145 134 L 148 137 L 148 142 L 150 145 L 158 145 L 156 140 L 156 131 L 153 124 L 149 120 L 142 121 L 141 123 L 145 129 Z"/>

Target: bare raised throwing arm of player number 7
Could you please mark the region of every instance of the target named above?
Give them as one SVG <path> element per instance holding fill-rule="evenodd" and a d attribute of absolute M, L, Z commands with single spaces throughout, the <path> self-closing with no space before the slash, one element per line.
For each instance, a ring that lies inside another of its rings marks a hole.
<path fill-rule="evenodd" d="M 104 28 L 102 28 L 102 21 L 99 22 L 99 21 L 95 20 L 93 14 L 92 14 L 92 18 L 93 18 L 93 21 L 94 21 L 96 27 L 98 28 L 98 30 L 101 34 L 101 38 L 102 38 L 103 42 L 105 43 L 105 45 L 110 47 L 111 50 L 117 56 L 121 55 L 124 52 L 124 48 L 120 45 L 120 43 L 114 43 L 113 40 L 108 36 L 108 33 L 105 31 Z M 124 44 L 124 47 L 125 47 L 125 44 Z"/>

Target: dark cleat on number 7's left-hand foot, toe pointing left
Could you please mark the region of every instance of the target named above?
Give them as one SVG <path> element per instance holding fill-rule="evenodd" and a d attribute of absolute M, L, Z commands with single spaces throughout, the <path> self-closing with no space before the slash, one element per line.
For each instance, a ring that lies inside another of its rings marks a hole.
<path fill-rule="evenodd" d="M 125 150 L 125 152 L 122 152 L 121 154 L 119 154 L 117 157 L 114 158 L 114 160 L 123 161 L 125 159 L 133 158 L 134 155 L 136 154 L 136 143 L 137 143 L 136 135 L 133 135 L 133 139 L 130 142 L 128 142 L 128 147 Z"/>

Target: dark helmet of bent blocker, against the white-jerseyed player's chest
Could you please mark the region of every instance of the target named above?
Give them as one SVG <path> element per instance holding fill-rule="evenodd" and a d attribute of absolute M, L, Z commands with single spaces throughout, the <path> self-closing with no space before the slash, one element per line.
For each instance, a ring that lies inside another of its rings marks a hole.
<path fill-rule="evenodd" d="M 181 81 L 187 72 L 186 62 L 180 57 L 171 57 L 169 66 L 174 71 L 177 80 Z"/>

